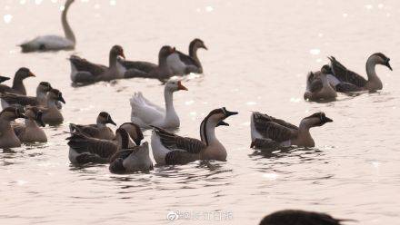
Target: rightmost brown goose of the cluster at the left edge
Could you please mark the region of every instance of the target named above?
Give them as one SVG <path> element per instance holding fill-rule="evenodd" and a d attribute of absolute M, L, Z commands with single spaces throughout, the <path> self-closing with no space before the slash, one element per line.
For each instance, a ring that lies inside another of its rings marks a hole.
<path fill-rule="evenodd" d="M 38 107 L 43 112 L 42 121 L 51 126 L 59 125 L 64 122 L 63 114 L 57 107 L 57 103 L 65 103 L 63 93 L 58 89 L 52 89 L 47 93 L 47 105 Z"/>

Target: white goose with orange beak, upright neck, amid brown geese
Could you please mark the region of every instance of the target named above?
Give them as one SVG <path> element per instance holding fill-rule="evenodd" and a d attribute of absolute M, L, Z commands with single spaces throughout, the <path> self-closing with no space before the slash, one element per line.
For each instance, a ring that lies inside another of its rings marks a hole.
<path fill-rule="evenodd" d="M 150 126 L 164 129 L 179 127 L 179 117 L 175 112 L 173 103 L 173 93 L 179 90 L 187 91 L 187 88 L 180 81 L 168 81 L 165 84 L 166 110 L 145 99 L 142 93 L 135 93 L 130 99 L 132 107 L 131 121 L 145 129 L 150 128 Z"/>

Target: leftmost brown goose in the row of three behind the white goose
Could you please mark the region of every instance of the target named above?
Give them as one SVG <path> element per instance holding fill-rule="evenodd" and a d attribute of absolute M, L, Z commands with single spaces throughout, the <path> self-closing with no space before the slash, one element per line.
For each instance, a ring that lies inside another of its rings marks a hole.
<path fill-rule="evenodd" d="M 124 78 L 116 67 L 117 57 L 125 58 L 124 49 L 120 45 L 114 45 L 109 54 L 108 67 L 102 64 L 93 64 L 77 55 L 69 58 L 71 63 L 71 80 L 73 83 L 109 82 Z"/>

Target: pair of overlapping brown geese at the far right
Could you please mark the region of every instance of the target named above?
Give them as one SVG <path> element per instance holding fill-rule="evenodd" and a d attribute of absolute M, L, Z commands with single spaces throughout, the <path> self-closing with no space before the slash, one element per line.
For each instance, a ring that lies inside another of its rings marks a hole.
<path fill-rule="evenodd" d="M 375 92 L 382 90 L 381 79 L 375 73 L 377 64 L 385 65 L 392 70 L 390 59 L 385 54 L 375 53 L 366 61 L 366 74 L 368 79 L 348 70 L 340 64 L 335 57 L 328 58 L 330 65 L 325 64 L 320 71 L 310 72 L 307 75 L 304 97 L 310 101 L 335 100 L 337 93 Z"/>

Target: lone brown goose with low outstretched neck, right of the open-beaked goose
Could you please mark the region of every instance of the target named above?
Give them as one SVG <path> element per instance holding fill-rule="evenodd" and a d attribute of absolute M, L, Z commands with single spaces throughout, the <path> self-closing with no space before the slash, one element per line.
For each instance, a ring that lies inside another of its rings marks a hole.
<path fill-rule="evenodd" d="M 297 127 L 289 122 L 276 119 L 267 114 L 253 112 L 251 117 L 251 147 L 270 148 L 270 146 L 314 147 L 315 142 L 310 128 L 333 122 L 324 112 L 316 112 L 305 117 Z"/>

